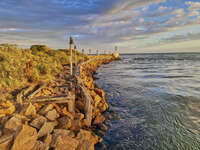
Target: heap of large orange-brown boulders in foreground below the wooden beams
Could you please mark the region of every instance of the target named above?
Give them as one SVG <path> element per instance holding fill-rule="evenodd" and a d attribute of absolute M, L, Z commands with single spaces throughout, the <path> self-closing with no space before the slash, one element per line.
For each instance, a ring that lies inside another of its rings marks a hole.
<path fill-rule="evenodd" d="M 65 106 L 29 103 L 18 111 L 0 118 L 1 150 L 93 150 L 99 140 L 84 114 L 71 114 Z"/>

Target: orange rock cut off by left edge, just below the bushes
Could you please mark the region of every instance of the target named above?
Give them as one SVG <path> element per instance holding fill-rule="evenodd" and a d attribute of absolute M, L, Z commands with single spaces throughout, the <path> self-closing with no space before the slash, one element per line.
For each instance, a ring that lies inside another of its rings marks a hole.
<path fill-rule="evenodd" d="M 15 112 L 15 106 L 10 101 L 0 101 L 0 115 L 10 115 Z"/>

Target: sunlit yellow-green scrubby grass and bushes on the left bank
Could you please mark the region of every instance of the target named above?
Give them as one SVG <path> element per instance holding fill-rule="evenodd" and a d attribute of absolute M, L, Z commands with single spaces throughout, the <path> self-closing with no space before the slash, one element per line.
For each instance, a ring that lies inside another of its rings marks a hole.
<path fill-rule="evenodd" d="M 16 45 L 0 44 L 0 100 L 13 99 L 13 90 L 32 82 L 54 80 L 63 70 L 62 64 L 69 64 L 69 54 L 69 50 L 53 50 L 45 45 L 21 49 Z M 88 58 L 79 52 L 77 55 L 78 61 Z"/>

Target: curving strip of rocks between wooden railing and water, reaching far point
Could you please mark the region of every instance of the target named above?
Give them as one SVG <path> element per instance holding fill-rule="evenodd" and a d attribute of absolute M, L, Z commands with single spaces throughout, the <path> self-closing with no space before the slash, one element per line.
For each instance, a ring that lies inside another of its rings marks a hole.
<path fill-rule="evenodd" d="M 102 112 L 108 109 L 108 103 L 105 98 L 105 92 L 95 86 L 93 74 L 99 66 L 109 63 L 113 59 L 115 58 L 112 56 L 98 56 L 98 58 L 84 63 L 80 68 L 81 79 L 93 98 L 92 124 L 103 130 L 107 130 L 107 127 L 103 124 L 105 117 L 102 115 Z"/>

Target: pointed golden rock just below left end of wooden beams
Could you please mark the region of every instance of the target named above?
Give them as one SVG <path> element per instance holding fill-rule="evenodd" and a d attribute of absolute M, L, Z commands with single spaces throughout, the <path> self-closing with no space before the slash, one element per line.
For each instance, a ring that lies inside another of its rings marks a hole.
<path fill-rule="evenodd" d="M 22 108 L 20 113 L 27 117 L 34 117 L 36 115 L 36 109 L 31 103 L 29 103 Z"/>

